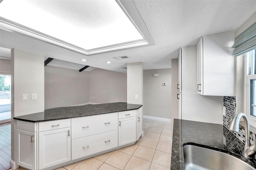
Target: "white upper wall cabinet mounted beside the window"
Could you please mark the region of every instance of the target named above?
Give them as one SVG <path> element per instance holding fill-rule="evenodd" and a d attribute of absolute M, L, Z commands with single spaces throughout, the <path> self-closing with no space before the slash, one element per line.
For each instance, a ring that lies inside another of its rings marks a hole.
<path fill-rule="evenodd" d="M 232 55 L 235 32 L 203 36 L 197 45 L 197 93 L 234 96 L 235 57 Z"/>

